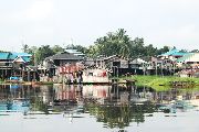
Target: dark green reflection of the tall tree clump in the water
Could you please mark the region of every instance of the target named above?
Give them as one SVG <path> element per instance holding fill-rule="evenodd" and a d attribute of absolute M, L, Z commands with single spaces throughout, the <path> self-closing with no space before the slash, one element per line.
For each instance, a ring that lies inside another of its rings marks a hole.
<path fill-rule="evenodd" d="M 85 110 L 95 116 L 97 122 L 104 122 L 107 128 L 124 129 L 130 122 L 144 122 L 145 113 L 155 112 L 155 106 L 150 102 L 144 105 L 102 106 L 97 103 L 85 105 Z"/>

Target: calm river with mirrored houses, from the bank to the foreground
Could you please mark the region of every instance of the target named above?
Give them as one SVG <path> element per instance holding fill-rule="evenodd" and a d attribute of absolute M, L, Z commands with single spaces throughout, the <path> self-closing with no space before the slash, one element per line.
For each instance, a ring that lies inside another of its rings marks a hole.
<path fill-rule="evenodd" d="M 2 132 L 198 132 L 199 90 L 0 85 Z"/>

